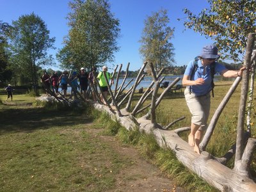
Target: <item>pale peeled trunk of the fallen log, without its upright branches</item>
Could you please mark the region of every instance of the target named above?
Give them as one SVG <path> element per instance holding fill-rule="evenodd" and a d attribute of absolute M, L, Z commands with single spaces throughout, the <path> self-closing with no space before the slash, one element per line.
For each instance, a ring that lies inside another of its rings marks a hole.
<path fill-rule="evenodd" d="M 113 120 L 118 120 L 128 130 L 138 126 L 140 131 L 152 132 L 161 147 L 168 147 L 173 150 L 182 164 L 220 191 L 256 191 L 256 184 L 252 179 L 244 177 L 236 170 L 231 170 L 218 163 L 218 161 L 211 159 L 211 155 L 207 152 L 202 152 L 201 155 L 196 154 L 193 147 L 190 147 L 188 142 L 179 137 L 177 131 L 154 129 L 150 120 L 145 120 L 145 118 L 136 120 L 129 113 L 125 114 L 124 111 L 121 111 L 124 116 L 120 117 L 114 115 L 106 106 L 96 103 L 93 106 L 100 111 L 107 112 Z M 184 129 L 186 128 L 184 127 Z"/>

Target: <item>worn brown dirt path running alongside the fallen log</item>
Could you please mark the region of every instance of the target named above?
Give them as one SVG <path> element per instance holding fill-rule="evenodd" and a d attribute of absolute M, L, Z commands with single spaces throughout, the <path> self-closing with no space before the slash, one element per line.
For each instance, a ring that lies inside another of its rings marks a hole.
<path fill-rule="evenodd" d="M 97 134 L 100 129 L 90 129 L 91 134 Z M 99 135 L 98 135 L 99 136 Z M 165 191 L 165 192 L 184 192 L 185 190 L 175 186 L 171 179 L 164 177 L 154 164 L 148 163 L 140 156 L 136 148 L 124 145 L 116 140 L 114 136 L 100 136 L 101 141 L 109 145 L 123 157 L 132 159 L 132 164 L 125 167 L 116 175 L 115 192 L 121 191 Z M 110 192 L 109 191 L 109 192 Z"/>

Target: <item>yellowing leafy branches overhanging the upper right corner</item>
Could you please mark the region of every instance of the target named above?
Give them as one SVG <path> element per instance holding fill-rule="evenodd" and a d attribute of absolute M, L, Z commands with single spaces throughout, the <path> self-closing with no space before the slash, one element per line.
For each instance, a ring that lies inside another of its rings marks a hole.
<path fill-rule="evenodd" d="M 216 41 L 221 58 L 242 61 L 249 33 L 256 33 L 255 0 L 208 0 L 198 15 L 188 9 L 184 26 Z M 241 56 L 241 57 L 239 57 Z"/>

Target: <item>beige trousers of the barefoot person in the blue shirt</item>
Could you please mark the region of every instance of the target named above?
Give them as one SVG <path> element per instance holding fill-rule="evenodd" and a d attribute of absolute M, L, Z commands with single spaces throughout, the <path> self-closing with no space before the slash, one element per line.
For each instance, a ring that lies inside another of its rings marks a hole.
<path fill-rule="evenodd" d="M 211 107 L 211 95 L 207 93 L 202 96 L 195 96 L 195 93 L 189 93 L 189 88 L 184 91 L 185 99 L 191 113 L 191 123 L 200 125 L 199 130 L 207 128 L 207 120 Z"/>

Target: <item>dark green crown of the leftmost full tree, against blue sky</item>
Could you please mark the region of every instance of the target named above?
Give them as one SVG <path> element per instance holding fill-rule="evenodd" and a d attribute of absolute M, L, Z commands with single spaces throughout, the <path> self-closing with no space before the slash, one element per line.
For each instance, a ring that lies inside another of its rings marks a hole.
<path fill-rule="evenodd" d="M 13 21 L 10 69 L 16 81 L 23 78 L 34 88 L 37 86 L 39 66 L 52 64 L 52 56 L 48 56 L 47 49 L 54 48 L 55 38 L 50 38 L 49 33 L 44 20 L 35 13 L 22 15 Z"/>

